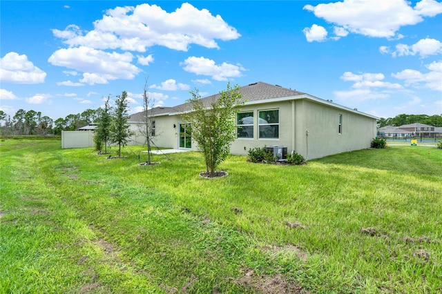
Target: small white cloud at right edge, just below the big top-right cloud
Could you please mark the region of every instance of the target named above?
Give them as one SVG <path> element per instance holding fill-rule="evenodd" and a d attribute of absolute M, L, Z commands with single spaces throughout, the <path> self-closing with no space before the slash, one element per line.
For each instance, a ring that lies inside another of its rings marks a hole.
<path fill-rule="evenodd" d="M 396 56 L 420 55 L 428 57 L 430 55 L 438 55 L 442 53 L 442 42 L 436 39 L 421 39 L 417 43 L 409 46 L 406 44 L 396 45 L 396 50 L 391 54 Z"/>

